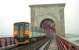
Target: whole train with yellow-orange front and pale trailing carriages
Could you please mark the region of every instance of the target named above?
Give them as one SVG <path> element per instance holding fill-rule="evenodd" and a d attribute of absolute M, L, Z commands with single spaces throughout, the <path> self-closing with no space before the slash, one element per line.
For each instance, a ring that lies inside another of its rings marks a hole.
<path fill-rule="evenodd" d="M 46 34 L 32 31 L 31 24 L 28 22 L 14 23 L 14 38 L 17 45 L 29 44 L 46 37 Z"/>

